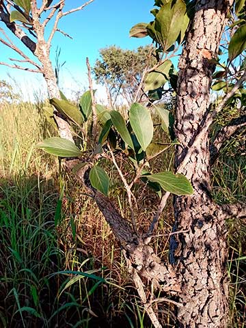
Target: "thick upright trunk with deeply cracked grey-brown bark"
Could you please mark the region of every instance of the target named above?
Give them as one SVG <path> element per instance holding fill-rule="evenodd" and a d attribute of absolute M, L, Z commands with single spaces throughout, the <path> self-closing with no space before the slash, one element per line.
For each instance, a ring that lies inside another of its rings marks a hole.
<path fill-rule="evenodd" d="M 232 0 L 199 0 L 180 58 L 176 167 L 200 131 L 209 107 L 210 85 L 219 42 Z M 225 220 L 210 196 L 208 133 L 200 137 L 182 174 L 193 184 L 191 197 L 174 200 L 174 230 L 189 230 L 172 239 L 170 260 L 181 276 L 178 327 L 225 328 L 228 323 L 228 278 Z"/>

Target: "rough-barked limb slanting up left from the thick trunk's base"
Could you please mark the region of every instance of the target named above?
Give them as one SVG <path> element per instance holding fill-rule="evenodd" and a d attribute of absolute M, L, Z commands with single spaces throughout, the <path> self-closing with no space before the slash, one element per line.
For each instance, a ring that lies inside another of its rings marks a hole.
<path fill-rule="evenodd" d="M 172 266 L 161 262 L 161 259 L 154 253 L 154 249 L 145 245 L 141 238 L 135 234 L 128 221 L 120 215 L 115 204 L 109 200 L 109 197 L 106 197 L 92 187 L 89 178 L 89 161 L 88 159 L 87 164 L 74 172 L 74 169 L 81 164 L 81 160 L 67 159 L 66 168 L 75 174 L 75 178 L 80 183 L 83 183 L 87 194 L 96 202 L 96 205 L 113 231 L 115 238 L 120 241 L 120 245 L 126 251 L 126 258 L 131 261 L 131 267 L 141 277 L 150 280 L 154 288 L 176 294 L 180 290 L 179 278 L 172 269 Z"/>

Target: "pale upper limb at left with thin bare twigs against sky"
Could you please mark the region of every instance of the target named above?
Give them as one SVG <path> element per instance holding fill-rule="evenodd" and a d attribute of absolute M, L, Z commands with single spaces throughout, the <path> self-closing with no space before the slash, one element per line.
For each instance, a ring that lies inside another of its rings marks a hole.
<path fill-rule="evenodd" d="M 51 42 L 57 31 L 68 36 L 58 28 L 61 18 L 83 10 L 83 8 L 93 1 L 89 0 L 78 8 L 72 8 L 70 10 L 65 10 L 66 0 L 58 1 L 57 3 L 54 3 L 55 1 L 53 0 L 42 0 L 40 5 L 38 5 L 36 0 L 0 1 L 0 22 L 3 23 L 5 29 L 11 31 L 31 51 L 32 55 L 38 59 L 38 61 L 34 61 L 27 53 L 21 51 L 10 40 L 4 29 L 1 29 L 2 37 L 0 38 L 0 42 L 17 53 L 19 58 L 10 58 L 10 61 L 14 62 L 14 64 L 3 61 L 0 61 L 0 64 L 29 72 L 41 73 L 46 82 L 49 97 L 61 98 L 55 71 L 53 70 L 50 59 Z M 47 26 L 51 24 L 53 26 L 50 32 L 48 32 L 49 36 L 46 38 Z M 54 110 L 54 118 L 59 128 L 59 134 L 72 141 L 72 133 L 66 120 L 64 120 L 62 115 L 57 114 L 57 111 Z"/>

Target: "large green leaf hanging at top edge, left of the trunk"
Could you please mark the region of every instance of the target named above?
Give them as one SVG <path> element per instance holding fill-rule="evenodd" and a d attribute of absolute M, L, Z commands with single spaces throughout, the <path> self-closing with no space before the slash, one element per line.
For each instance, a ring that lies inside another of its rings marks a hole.
<path fill-rule="evenodd" d="M 167 51 L 174 44 L 180 31 L 184 33 L 184 25 L 187 24 L 187 17 L 184 18 L 186 10 L 185 2 L 176 0 L 161 6 L 158 14 L 156 14 L 154 28 L 161 33 L 163 51 Z"/>

